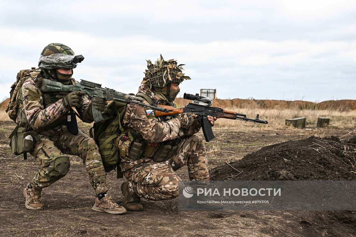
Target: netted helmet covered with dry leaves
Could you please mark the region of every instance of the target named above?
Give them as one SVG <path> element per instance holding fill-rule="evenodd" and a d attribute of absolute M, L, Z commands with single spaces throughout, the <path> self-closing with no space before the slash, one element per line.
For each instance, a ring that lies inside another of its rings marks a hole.
<path fill-rule="evenodd" d="M 145 77 L 141 84 L 146 83 L 152 88 L 163 88 L 169 83 L 181 83 L 184 80 L 189 80 L 190 77 L 185 76 L 182 73 L 182 66 L 185 64 L 177 65 L 177 61 L 174 59 L 164 60 L 161 54 L 161 59 L 157 59 L 155 64 L 151 60 L 147 60 L 147 69 Z"/>

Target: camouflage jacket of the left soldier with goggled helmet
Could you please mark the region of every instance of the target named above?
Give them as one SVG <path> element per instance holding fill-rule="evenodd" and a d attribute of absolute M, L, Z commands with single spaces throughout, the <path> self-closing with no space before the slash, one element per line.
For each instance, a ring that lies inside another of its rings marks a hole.
<path fill-rule="evenodd" d="M 62 99 L 59 99 L 54 104 L 51 104 L 45 108 L 43 106 L 43 94 L 39 89 L 42 82 L 41 74 L 38 74 L 36 78 L 29 77 L 22 84 L 23 109 L 25 111 L 28 123 L 34 130 L 45 128 L 46 131 L 41 132 L 42 134 L 47 132 L 54 135 L 60 130 L 63 123 L 48 129 L 46 127 L 51 127 L 50 125 L 55 121 L 57 122 L 58 120 L 63 120 L 64 122 L 69 109 L 63 106 Z M 71 83 L 75 84 L 78 82 L 72 78 Z M 55 97 L 58 94 L 59 93 L 53 93 L 53 95 L 51 94 L 51 98 L 52 96 Z M 64 94 L 62 94 L 62 96 L 63 95 Z M 82 117 L 83 122 L 87 123 L 94 121 L 93 114 L 90 109 L 91 106 L 89 105 L 90 101 L 88 97 L 84 96 L 80 105 L 75 108 L 78 111 L 78 114 Z"/>

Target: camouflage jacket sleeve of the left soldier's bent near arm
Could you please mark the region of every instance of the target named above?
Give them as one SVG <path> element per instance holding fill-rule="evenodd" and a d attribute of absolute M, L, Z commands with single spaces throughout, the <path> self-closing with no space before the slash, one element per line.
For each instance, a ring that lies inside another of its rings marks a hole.
<path fill-rule="evenodd" d="M 48 126 L 69 111 L 63 106 L 62 99 L 45 109 L 42 95 L 32 79 L 27 79 L 23 83 L 22 97 L 26 118 L 35 130 Z"/>

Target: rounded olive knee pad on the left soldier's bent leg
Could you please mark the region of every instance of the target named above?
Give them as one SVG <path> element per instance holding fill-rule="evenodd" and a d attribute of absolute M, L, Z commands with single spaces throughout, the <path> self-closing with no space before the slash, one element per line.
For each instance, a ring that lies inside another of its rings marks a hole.
<path fill-rule="evenodd" d="M 68 156 L 54 157 L 51 163 L 49 163 L 48 178 L 51 180 L 59 180 L 66 176 L 70 167 L 70 160 Z"/>

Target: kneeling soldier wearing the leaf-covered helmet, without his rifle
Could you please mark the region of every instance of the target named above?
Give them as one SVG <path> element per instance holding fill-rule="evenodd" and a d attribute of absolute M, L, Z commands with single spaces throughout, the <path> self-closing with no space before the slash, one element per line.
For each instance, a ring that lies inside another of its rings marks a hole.
<path fill-rule="evenodd" d="M 137 97 L 148 104 L 176 107 L 174 99 L 179 93 L 179 84 L 190 79 L 182 73 L 183 68 L 173 59 L 157 59 L 155 64 L 147 61 L 145 78 L 138 89 Z M 216 117 L 208 116 L 211 125 Z M 121 185 L 124 206 L 130 211 L 142 211 L 140 198 L 166 200 L 177 197 L 183 191 L 182 180 L 176 170 L 187 165 L 190 180 L 202 186 L 209 183 L 208 160 L 203 139 L 195 135 L 200 130 L 200 121 L 194 114 L 185 113 L 155 117 L 150 109 L 127 105 L 123 118 L 124 131 L 117 138 L 120 151 L 120 167 L 128 180 Z M 221 209 L 221 204 L 197 204 L 193 196 L 188 205 L 192 208 Z M 210 200 L 210 199 L 209 199 Z"/>

